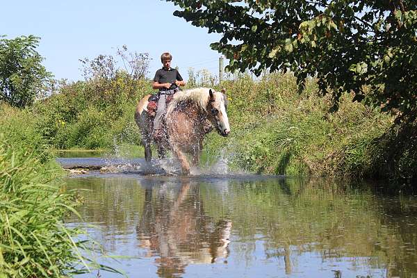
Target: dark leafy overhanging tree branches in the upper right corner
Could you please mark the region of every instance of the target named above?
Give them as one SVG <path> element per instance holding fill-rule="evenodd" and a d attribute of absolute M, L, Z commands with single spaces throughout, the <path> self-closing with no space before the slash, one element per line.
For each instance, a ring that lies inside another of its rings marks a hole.
<path fill-rule="evenodd" d="M 416 118 L 415 0 L 166 0 L 174 15 L 208 33 L 226 70 L 291 70 L 300 90 L 316 76 L 337 109 L 343 92 L 408 120 Z"/>

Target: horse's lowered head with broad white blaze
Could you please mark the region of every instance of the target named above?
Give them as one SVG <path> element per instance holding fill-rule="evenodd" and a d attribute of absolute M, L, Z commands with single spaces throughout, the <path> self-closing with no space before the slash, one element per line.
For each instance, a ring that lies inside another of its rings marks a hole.
<path fill-rule="evenodd" d="M 221 136 L 230 133 L 229 118 L 227 117 L 227 97 L 222 92 L 209 90 L 208 96 L 208 120 L 215 126 Z"/>

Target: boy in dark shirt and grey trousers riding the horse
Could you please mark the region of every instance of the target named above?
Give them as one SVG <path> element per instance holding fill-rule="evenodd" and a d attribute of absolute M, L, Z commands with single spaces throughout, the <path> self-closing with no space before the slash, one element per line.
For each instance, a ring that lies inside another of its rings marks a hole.
<path fill-rule="evenodd" d="M 161 55 L 163 67 L 156 71 L 152 88 L 159 90 L 158 110 L 154 119 L 154 138 L 160 139 L 161 120 L 166 108 L 167 96 L 179 91 L 179 86 L 186 85 L 177 69 L 171 67 L 172 55 L 165 52 Z"/>

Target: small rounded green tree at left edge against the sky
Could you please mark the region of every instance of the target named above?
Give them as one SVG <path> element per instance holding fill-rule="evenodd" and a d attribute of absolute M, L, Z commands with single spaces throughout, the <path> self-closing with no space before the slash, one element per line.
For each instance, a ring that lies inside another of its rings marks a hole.
<path fill-rule="evenodd" d="M 24 108 L 52 81 L 52 74 L 41 65 L 44 58 L 35 51 L 40 38 L 0 38 L 0 100 Z"/>

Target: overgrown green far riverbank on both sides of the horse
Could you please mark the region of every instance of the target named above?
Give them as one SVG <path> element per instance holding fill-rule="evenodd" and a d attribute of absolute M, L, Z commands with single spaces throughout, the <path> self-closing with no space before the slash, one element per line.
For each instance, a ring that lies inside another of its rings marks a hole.
<path fill-rule="evenodd" d="M 198 85 L 213 84 L 193 83 Z M 352 102 L 350 95 L 342 97 L 338 111 L 329 113 L 332 99 L 318 95 L 314 79 L 307 81 L 301 94 L 295 77 L 281 73 L 256 80 L 243 74 L 213 87 L 226 89 L 231 134 L 208 136 L 207 160 L 213 154 L 223 156 L 234 169 L 261 174 L 406 183 L 417 177 L 414 133 L 408 131 L 407 137 L 396 132 L 404 128 L 394 127 L 393 116 Z M 65 84 L 58 94 L 31 108 L 35 132 L 55 149 L 107 149 L 120 156 L 142 156 L 133 111 L 138 100 L 153 90 L 147 81 L 138 81 L 135 88 L 128 94 L 123 87 L 97 92 L 97 85 L 88 81 Z M 393 146 L 399 140 L 402 147 L 395 153 Z"/>

